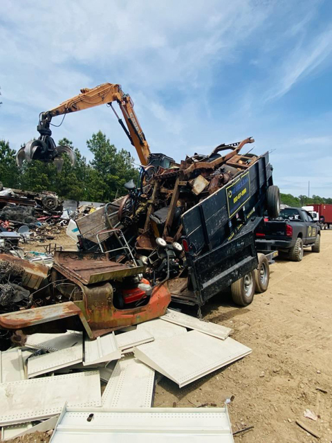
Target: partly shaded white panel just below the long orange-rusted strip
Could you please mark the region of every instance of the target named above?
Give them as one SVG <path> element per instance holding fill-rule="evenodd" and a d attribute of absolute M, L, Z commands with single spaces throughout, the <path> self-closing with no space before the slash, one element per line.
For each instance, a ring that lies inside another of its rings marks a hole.
<path fill-rule="evenodd" d="M 28 335 L 26 346 L 54 352 L 82 343 L 82 332 L 65 332 L 64 334 L 33 334 Z"/>

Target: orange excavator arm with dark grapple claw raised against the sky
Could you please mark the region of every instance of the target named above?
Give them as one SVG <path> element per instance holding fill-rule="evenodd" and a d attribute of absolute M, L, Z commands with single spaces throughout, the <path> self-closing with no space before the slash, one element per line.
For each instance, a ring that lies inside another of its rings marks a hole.
<path fill-rule="evenodd" d="M 118 102 L 122 111 L 124 122 L 119 118 L 112 103 Z M 70 98 L 62 102 L 59 106 L 42 112 L 39 115 L 39 124 L 37 131 L 40 136 L 38 140 L 26 143 L 17 153 L 17 165 L 21 166 L 23 161 L 40 160 L 46 163 L 55 161 L 58 170 L 61 170 L 63 159 L 62 154 L 65 152 L 71 159 L 71 163 L 75 163 L 75 154 L 68 146 L 56 146 L 55 141 L 51 137 L 52 131 L 50 129 L 51 120 L 55 116 L 64 116 L 72 112 L 82 111 L 91 107 L 99 105 L 109 105 L 114 114 L 118 118 L 118 122 L 127 134 L 131 144 L 136 148 L 140 163 L 147 165 L 149 163 L 149 156 L 151 154 L 149 145 L 142 132 L 138 118 L 133 110 L 133 101 L 128 94 L 124 94 L 120 84 L 104 83 L 93 89 L 81 89 L 78 96 Z M 126 126 L 127 125 L 127 126 Z"/>

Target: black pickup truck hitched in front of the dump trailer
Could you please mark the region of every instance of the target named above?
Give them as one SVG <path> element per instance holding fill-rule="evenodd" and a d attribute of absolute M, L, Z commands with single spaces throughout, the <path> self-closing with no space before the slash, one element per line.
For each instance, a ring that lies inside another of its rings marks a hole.
<path fill-rule="evenodd" d="M 277 219 L 264 219 L 256 231 L 256 243 L 261 249 L 277 249 L 300 262 L 303 248 L 320 252 L 320 226 L 306 210 L 284 208 Z"/>

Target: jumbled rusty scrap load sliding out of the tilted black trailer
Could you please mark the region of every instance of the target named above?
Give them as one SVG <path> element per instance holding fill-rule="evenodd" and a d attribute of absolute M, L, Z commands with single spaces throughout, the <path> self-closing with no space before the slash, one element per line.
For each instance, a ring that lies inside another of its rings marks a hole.
<path fill-rule="evenodd" d="M 127 183 L 127 196 L 77 221 L 80 250 L 109 251 L 116 262 L 130 261 L 128 253 L 112 251 L 124 246 L 112 231 L 120 228 L 136 262 L 147 266 L 145 276 L 150 282 L 156 284 L 182 274 L 186 264 L 180 242 L 181 216 L 255 163 L 258 157 L 254 154 L 239 154 L 246 143 L 253 142 L 247 138 L 219 145 L 210 155 L 195 154 L 180 165 L 165 156 L 164 167 L 158 170 L 152 161 L 142 172 L 137 188 Z M 220 154 L 227 150 L 228 154 Z"/>

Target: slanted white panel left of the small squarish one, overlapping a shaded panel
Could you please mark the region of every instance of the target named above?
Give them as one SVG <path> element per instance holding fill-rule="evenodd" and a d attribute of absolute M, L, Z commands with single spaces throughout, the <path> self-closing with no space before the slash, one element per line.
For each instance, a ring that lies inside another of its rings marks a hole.
<path fill-rule="evenodd" d="M 66 368 L 83 360 L 82 341 L 72 347 L 28 359 L 28 378 Z"/>

